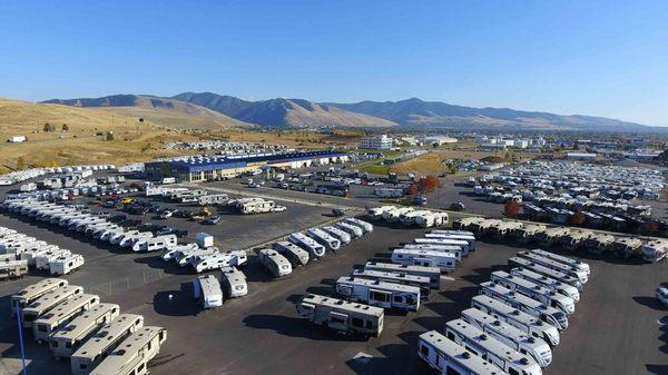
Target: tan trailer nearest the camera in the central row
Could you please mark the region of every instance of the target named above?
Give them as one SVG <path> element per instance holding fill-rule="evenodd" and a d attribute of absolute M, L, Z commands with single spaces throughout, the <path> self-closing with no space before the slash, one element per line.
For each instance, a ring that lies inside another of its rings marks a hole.
<path fill-rule="evenodd" d="M 310 322 L 346 334 L 377 337 L 383 332 L 385 310 L 381 307 L 310 294 L 296 308 Z"/>

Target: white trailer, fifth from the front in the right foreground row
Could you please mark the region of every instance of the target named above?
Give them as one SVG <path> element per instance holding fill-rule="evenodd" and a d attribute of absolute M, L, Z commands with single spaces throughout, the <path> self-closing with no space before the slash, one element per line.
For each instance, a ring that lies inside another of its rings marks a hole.
<path fill-rule="evenodd" d="M 482 283 L 480 284 L 480 294 L 495 298 L 507 305 L 532 315 L 553 325 L 559 330 L 568 328 L 568 318 L 563 312 L 553 307 L 546 307 L 540 302 L 515 293 L 500 284 L 493 282 Z"/>

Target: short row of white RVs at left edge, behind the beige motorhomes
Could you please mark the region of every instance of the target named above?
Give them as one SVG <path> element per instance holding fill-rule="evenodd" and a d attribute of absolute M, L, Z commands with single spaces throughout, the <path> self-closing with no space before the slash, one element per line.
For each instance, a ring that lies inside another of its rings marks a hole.
<path fill-rule="evenodd" d="M 28 268 L 67 275 L 84 266 L 84 256 L 56 245 L 0 227 L 0 279 L 28 274 Z"/>

